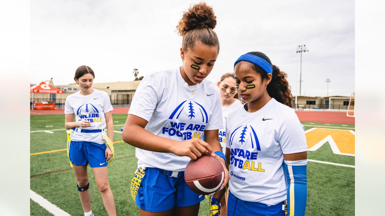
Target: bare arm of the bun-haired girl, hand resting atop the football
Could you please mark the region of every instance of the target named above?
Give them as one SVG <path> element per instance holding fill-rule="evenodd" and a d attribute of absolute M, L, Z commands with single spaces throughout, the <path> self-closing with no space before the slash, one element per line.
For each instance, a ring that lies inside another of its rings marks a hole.
<path fill-rule="evenodd" d="M 175 141 L 154 135 L 144 129 L 147 123 L 147 120 L 136 115 L 129 114 L 127 121 L 124 124 L 122 133 L 123 141 L 143 150 L 173 153 L 178 156 L 188 156 L 192 160 L 196 160 L 202 155 L 211 155 L 211 153 L 213 153 L 212 147 L 209 143 L 206 143 L 199 138 L 185 141 Z"/>

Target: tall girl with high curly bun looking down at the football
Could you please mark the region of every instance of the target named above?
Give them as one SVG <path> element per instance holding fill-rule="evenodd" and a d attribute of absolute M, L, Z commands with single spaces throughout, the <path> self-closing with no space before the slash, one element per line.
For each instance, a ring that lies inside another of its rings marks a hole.
<path fill-rule="evenodd" d="M 205 80 L 219 53 L 215 25 L 206 3 L 189 8 L 177 25 L 182 65 L 146 75 L 132 99 L 122 138 L 136 147 L 131 196 L 142 216 L 198 215 L 204 196 L 184 181 L 187 163 L 211 155 L 225 168 L 219 89 Z M 228 179 L 225 169 L 221 189 Z"/>

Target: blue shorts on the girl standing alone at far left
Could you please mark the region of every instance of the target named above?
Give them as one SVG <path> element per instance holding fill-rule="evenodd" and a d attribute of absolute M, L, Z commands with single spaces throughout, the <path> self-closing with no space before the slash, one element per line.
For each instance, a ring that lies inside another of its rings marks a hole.
<path fill-rule="evenodd" d="M 70 144 L 69 156 L 72 164 L 77 166 L 102 167 L 107 166 L 105 158 L 105 144 L 98 144 L 87 141 L 72 141 Z"/>

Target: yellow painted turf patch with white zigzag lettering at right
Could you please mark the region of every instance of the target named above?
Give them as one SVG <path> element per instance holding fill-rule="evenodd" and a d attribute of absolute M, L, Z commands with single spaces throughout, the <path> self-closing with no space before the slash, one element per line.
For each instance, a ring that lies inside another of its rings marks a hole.
<path fill-rule="evenodd" d="M 305 131 L 309 151 L 316 151 L 326 142 L 336 155 L 355 156 L 355 133 L 352 130 L 311 128 Z"/>

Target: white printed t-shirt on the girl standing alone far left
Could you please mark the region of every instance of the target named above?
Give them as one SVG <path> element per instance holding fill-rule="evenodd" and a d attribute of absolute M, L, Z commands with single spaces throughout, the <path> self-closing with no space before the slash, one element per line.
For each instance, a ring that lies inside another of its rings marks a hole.
<path fill-rule="evenodd" d="M 64 105 L 65 114 L 74 114 L 75 120 L 87 120 L 91 122 L 85 130 L 104 129 L 106 126 L 104 113 L 114 110 L 110 98 L 105 91 L 94 89 L 89 95 L 80 95 L 77 91 L 67 97 Z M 72 141 L 89 141 L 104 144 L 102 133 L 81 133 L 72 131 Z"/>

